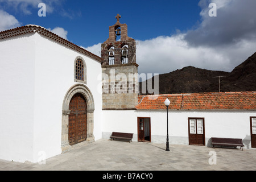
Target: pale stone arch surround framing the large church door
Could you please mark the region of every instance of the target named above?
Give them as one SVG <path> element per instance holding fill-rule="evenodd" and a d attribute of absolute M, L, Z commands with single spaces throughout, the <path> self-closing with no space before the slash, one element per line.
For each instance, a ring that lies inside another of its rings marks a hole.
<path fill-rule="evenodd" d="M 86 103 L 86 141 L 94 142 L 93 136 L 93 112 L 94 112 L 94 100 L 92 93 L 83 84 L 73 85 L 67 92 L 63 101 L 63 110 L 62 110 L 62 128 L 61 128 L 61 150 L 67 151 L 71 146 L 69 143 L 69 115 L 73 115 L 72 109 L 69 105 L 72 102 L 72 98 L 80 96 L 84 98 Z M 82 99 L 81 98 L 81 99 Z M 76 114 L 76 113 L 75 113 Z"/>

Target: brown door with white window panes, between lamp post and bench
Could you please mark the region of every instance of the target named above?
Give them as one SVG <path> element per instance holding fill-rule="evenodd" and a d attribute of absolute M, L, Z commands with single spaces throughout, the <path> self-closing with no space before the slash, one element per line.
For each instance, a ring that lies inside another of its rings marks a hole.
<path fill-rule="evenodd" d="M 204 118 L 188 118 L 189 144 L 205 146 Z"/>

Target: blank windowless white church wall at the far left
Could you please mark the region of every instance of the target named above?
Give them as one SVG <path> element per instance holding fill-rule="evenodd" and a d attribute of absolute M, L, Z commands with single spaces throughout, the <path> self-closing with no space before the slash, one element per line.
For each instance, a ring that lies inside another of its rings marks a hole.
<path fill-rule="evenodd" d="M 0 41 L 0 159 L 32 160 L 35 39 Z"/>

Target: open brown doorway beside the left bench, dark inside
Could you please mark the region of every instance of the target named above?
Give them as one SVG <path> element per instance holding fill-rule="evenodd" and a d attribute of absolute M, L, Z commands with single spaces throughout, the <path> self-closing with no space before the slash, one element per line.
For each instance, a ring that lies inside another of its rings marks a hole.
<path fill-rule="evenodd" d="M 138 141 L 151 142 L 150 118 L 138 118 Z"/>

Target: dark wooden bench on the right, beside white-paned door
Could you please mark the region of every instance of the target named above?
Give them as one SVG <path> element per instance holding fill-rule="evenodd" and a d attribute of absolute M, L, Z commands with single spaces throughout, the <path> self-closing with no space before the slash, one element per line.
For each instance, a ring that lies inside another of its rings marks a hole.
<path fill-rule="evenodd" d="M 212 144 L 213 147 L 215 145 L 217 146 L 228 146 L 228 147 L 237 147 L 239 146 L 240 149 L 242 148 L 243 150 L 243 141 L 240 138 L 215 138 L 212 137 Z"/>

